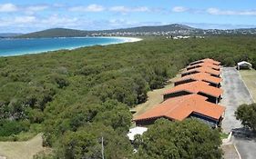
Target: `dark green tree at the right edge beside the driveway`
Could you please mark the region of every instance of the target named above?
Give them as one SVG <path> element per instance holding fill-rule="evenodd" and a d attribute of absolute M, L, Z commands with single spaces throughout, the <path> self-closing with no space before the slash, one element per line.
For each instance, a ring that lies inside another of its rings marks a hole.
<path fill-rule="evenodd" d="M 235 112 L 237 120 L 253 132 L 256 131 L 256 104 L 241 104 Z"/>

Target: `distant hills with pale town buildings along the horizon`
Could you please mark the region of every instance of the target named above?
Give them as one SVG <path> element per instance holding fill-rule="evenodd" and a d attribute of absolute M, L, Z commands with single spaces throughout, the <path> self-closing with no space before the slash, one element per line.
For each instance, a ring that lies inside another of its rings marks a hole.
<path fill-rule="evenodd" d="M 137 35 L 256 35 L 255 28 L 248 29 L 199 29 L 188 25 L 139 26 L 113 30 L 84 31 L 67 28 L 53 28 L 34 32 L 17 38 L 76 37 L 76 36 L 137 36 Z M 1 36 L 1 35 L 0 35 Z"/>

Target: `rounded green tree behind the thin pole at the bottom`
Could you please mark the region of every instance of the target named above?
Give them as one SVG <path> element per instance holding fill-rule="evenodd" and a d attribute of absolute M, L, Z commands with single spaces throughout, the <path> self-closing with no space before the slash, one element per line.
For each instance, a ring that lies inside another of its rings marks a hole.
<path fill-rule="evenodd" d="M 118 135 L 111 127 L 103 124 L 87 124 L 77 132 L 67 132 L 58 143 L 59 158 L 101 158 L 101 144 L 105 158 L 122 159 L 132 154 L 132 147 L 125 135 Z"/>

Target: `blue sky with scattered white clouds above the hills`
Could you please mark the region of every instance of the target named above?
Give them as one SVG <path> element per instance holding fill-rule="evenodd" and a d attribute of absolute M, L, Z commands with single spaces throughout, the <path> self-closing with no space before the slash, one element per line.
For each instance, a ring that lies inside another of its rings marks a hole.
<path fill-rule="evenodd" d="M 255 0 L 0 0 L 0 33 L 182 24 L 256 27 Z"/>

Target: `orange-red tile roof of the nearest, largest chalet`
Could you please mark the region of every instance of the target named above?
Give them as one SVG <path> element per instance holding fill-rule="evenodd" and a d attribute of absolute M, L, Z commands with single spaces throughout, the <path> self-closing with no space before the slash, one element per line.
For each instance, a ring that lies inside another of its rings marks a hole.
<path fill-rule="evenodd" d="M 189 94 L 176 98 L 171 98 L 156 107 L 150 109 L 145 114 L 141 114 L 134 118 L 134 121 L 147 120 L 150 118 L 167 117 L 171 120 L 183 120 L 189 117 L 189 114 L 197 113 L 203 114 L 219 120 L 224 113 L 225 107 L 219 104 L 212 104 L 207 102 L 207 97 L 199 94 Z"/>

